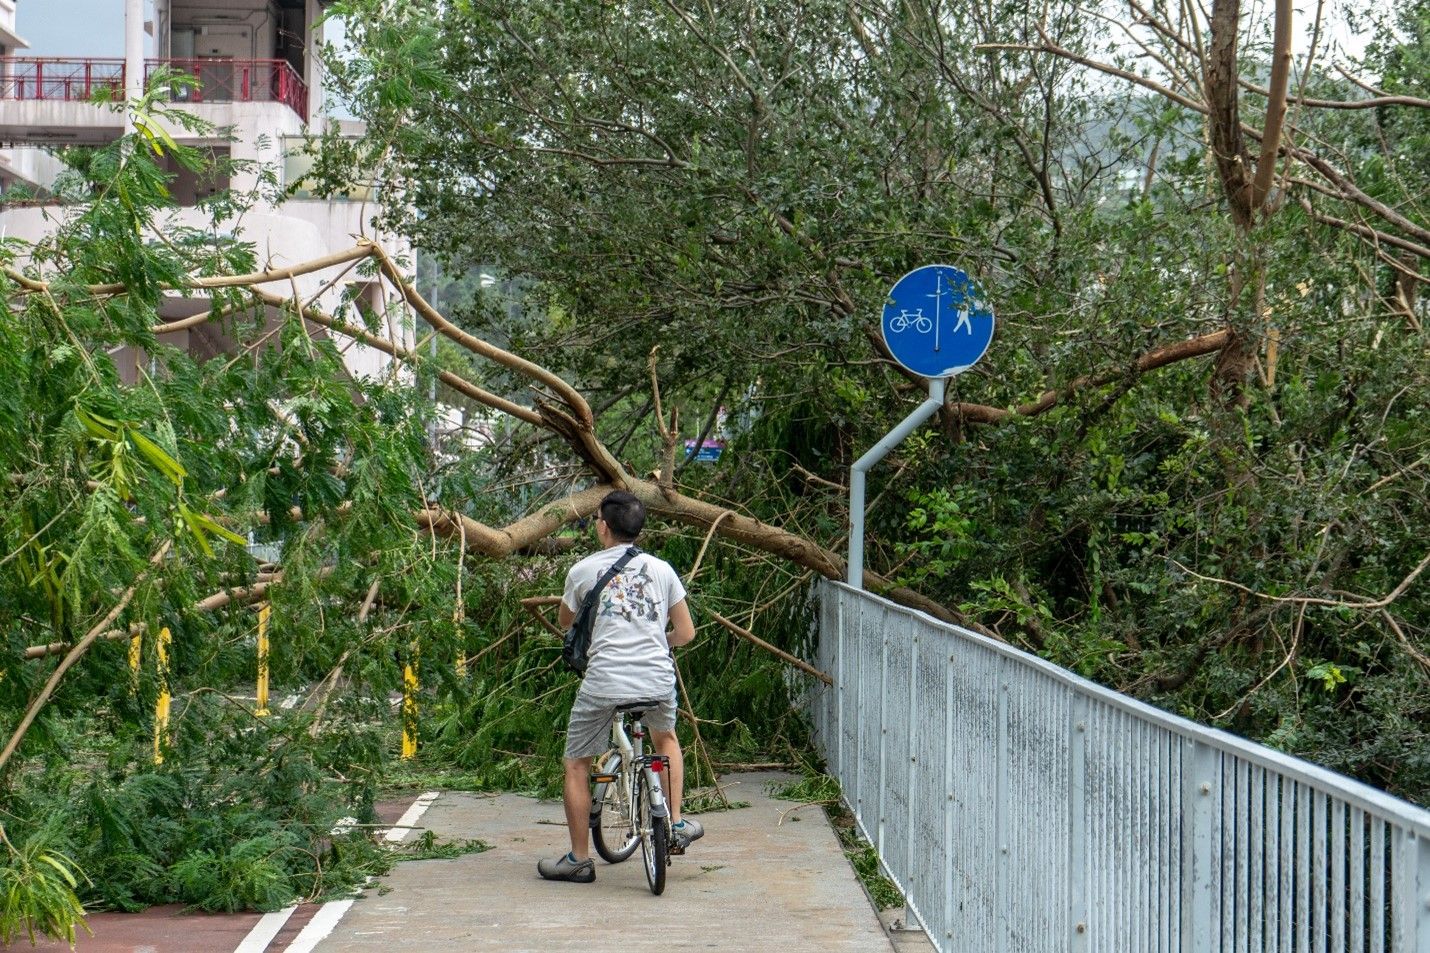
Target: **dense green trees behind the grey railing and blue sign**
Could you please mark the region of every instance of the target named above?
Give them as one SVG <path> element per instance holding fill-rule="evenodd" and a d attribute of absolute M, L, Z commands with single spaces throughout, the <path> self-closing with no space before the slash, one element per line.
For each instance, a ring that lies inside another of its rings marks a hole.
<path fill-rule="evenodd" d="M 879 303 L 958 262 L 998 336 L 875 474 L 871 565 L 1424 798 L 1423 3 L 1353 23 L 1358 60 L 1234 0 L 340 11 L 383 132 L 327 175 L 380 160 L 422 248 L 528 282 L 463 321 L 618 456 L 659 464 L 655 355 L 685 434 L 732 422 L 691 492 L 838 549 L 849 462 L 922 398 Z"/>

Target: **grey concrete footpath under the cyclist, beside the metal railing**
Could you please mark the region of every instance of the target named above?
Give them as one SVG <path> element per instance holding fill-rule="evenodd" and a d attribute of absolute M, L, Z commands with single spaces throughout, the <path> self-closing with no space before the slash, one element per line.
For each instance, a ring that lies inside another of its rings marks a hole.
<path fill-rule="evenodd" d="M 782 780 L 728 778 L 729 800 L 749 807 L 704 816 L 705 837 L 675 857 L 659 897 L 645 883 L 639 850 L 623 864 L 598 859 L 591 884 L 541 880 L 536 860 L 568 849 L 559 803 L 445 793 L 420 826 L 443 840 L 480 839 L 492 850 L 398 864 L 316 952 L 891 953 L 824 811 L 791 811 L 794 803 L 766 793 Z"/>

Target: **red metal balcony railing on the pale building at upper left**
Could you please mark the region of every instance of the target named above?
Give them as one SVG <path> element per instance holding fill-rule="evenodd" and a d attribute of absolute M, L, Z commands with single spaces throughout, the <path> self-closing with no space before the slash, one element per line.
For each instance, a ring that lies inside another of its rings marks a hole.
<path fill-rule="evenodd" d="M 307 120 L 307 84 L 287 60 L 146 60 L 144 80 L 167 66 L 192 76 L 194 87 L 174 90 L 186 103 L 283 103 Z M 0 57 L 0 100 L 83 102 L 99 90 L 124 92 L 124 60 L 103 57 Z"/>

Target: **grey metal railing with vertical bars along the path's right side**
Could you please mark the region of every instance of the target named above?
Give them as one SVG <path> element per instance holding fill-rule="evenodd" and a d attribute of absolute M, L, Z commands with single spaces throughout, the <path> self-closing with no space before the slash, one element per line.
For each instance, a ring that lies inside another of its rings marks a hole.
<path fill-rule="evenodd" d="M 1430 811 L 824 581 L 829 773 L 947 953 L 1430 953 Z"/>

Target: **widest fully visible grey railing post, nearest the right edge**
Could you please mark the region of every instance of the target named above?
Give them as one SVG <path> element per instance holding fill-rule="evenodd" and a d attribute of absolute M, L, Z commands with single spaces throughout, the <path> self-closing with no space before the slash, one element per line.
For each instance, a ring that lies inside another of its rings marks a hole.
<path fill-rule="evenodd" d="M 1181 949 L 1213 953 L 1217 917 L 1217 856 L 1221 840 L 1221 757 L 1200 741 L 1181 747 Z"/>

